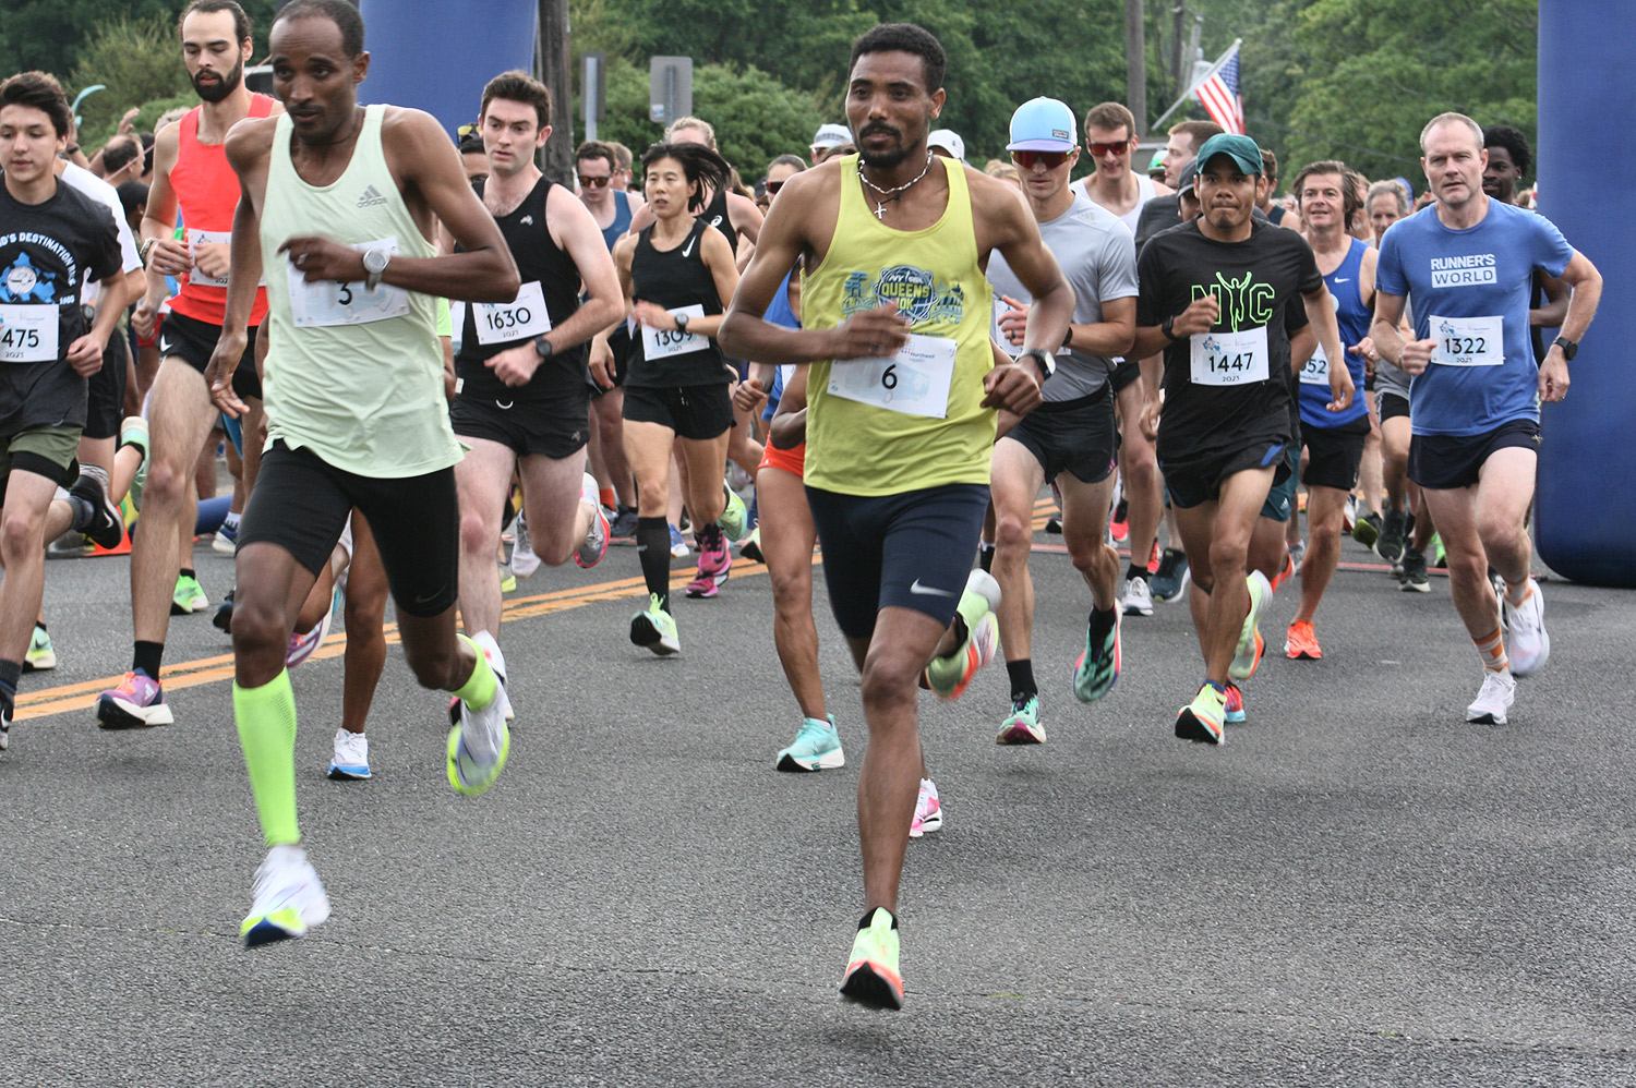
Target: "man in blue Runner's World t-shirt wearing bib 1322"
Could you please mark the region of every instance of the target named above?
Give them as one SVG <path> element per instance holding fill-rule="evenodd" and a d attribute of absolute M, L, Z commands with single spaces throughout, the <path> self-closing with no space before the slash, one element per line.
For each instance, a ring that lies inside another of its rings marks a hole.
<path fill-rule="evenodd" d="M 1371 332 L 1376 350 L 1414 378 L 1409 478 L 1443 537 L 1449 596 L 1484 669 L 1466 720 L 1505 725 L 1513 677 L 1538 672 L 1551 656 L 1523 527 L 1539 401 L 1567 396 L 1567 363 L 1597 312 L 1602 275 L 1549 219 L 1482 191 L 1487 152 L 1476 121 L 1440 113 L 1422 129 L 1420 149 L 1436 205 L 1381 239 Z M 1562 335 L 1539 365 L 1528 344 L 1535 272 L 1572 288 Z M 1415 304 L 1414 340 L 1397 332 L 1405 296 Z M 1505 579 L 1503 612 L 1489 584 L 1490 564 Z"/>

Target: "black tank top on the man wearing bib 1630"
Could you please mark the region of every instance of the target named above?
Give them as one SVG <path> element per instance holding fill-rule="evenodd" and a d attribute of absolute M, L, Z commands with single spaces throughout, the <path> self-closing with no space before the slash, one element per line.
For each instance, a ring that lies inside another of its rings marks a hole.
<path fill-rule="evenodd" d="M 579 267 L 568 252 L 551 241 L 551 231 L 545 221 L 545 201 L 551 185 L 551 178 L 542 177 L 517 208 L 494 218 L 512 259 L 517 262 L 522 290 L 512 306 L 466 303 L 460 353 L 455 357 L 460 396 L 510 402 L 551 401 L 587 393 L 584 344 L 556 352 L 550 360 L 542 362 L 540 368 L 533 371 L 533 380 L 520 389 L 496 378 L 484 363 L 486 358 L 507 348 L 530 344 L 535 335 L 545 330 L 538 329 L 532 335 L 522 332 L 530 324 L 537 327 L 543 324 L 537 312 L 537 299 L 543 299 L 545 314 L 553 329 L 579 309 Z M 483 182 L 476 183 L 476 190 L 481 198 Z M 491 342 L 484 344 L 484 339 Z"/>

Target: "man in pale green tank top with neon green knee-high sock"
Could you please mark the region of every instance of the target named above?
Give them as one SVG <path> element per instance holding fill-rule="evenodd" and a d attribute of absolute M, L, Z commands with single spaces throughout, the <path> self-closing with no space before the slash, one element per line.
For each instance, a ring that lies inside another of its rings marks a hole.
<path fill-rule="evenodd" d="M 481 794 L 506 766 L 506 699 L 478 646 L 455 633 L 460 447 L 448 427 L 437 298 L 510 303 L 520 281 L 494 219 L 434 118 L 357 103 L 370 57 L 347 0 L 294 0 L 270 39 L 273 90 L 290 113 L 234 129 L 242 180 L 227 317 L 209 383 L 229 416 L 255 281 L 267 272 L 268 448 L 239 540 L 232 705 L 267 861 L 240 926 L 247 946 L 304 936 L 329 900 L 301 849 L 296 705 L 285 654 L 353 507 L 375 530 L 398 605 L 404 659 L 425 687 L 463 700 L 447 772 Z M 399 188 L 401 187 L 401 188 Z M 442 223 L 468 252 L 438 257 Z"/>

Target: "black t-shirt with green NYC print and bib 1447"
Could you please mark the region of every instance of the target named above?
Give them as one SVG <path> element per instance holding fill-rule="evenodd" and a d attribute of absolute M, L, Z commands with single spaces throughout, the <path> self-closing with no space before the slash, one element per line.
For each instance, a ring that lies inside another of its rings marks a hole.
<path fill-rule="evenodd" d="M 1252 221 L 1248 239 L 1216 242 L 1193 221 L 1147 244 L 1137 278 L 1137 326 L 1163 324 L 1207 293 L 1220 303 L 1209 332 L 1165 348 L 1160 461 L 1292 440 L 1289 330 L 1306 324 L 1301 296 L 1324 286 L 1306 239 Z"/>

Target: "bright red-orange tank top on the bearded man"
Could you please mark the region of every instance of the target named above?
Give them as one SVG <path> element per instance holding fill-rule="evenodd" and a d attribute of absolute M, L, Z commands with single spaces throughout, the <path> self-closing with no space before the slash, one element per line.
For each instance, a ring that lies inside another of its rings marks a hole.
<path fill-rule="evenodd" d="M 200 142 L 200 113 L 193 106 L 178 123 L 177 162 L 170 167 L 170 188 L 177 195 L 188 247 L 201 242 L 227 242 L 232 237 L 232 213 L 239 206 L 239 175 L 227 165 L 222 144 Z M 250 116 L 265 118 L 273 111 L 267 95 L 250 97 Z M 200 272 L 178 276 L 182 290 L 170 299 L 170 309 L 219 326 L 227 316 L 227 278 L 214 280 Z M 267 288 L 255 288 L 250 324 L 260 326 L 267 316 Z"/>

